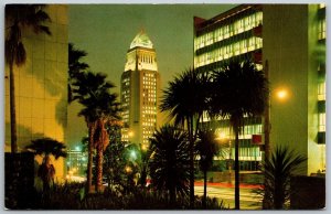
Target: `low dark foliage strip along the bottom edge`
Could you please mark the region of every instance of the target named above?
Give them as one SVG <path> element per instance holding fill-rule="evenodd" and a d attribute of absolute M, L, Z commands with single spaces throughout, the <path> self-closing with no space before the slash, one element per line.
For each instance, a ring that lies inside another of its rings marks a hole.
<path fill-rule="evenodd" d="M 135 191 L 128 195 L 117 195 L 111 190 L 104 193 L 88 194 L 82 199 L 79 183 L 55 185 L 50 195 L 42 196 L 39 208 L 42 210 L 186 210 L 190 207 L 185 197 L 179 196 L 170 203 L 167 194 L 150 190 Z M 201 210 L 201 197 L 195 197 L 195 208 Z M 207 199 L 207 210 L 224 210 L 223 203 L 215 199 Z"/>

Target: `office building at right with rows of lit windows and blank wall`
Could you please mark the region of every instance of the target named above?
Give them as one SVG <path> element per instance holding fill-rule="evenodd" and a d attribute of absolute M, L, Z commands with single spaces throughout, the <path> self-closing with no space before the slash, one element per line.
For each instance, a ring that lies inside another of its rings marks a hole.
<path fill-rule="evenodd" d="M 196 69 L 246 58 L 268 71 L 271 148 L 286 145 L 306 156 L 307 174 L 325 170 L 325 6 L 242 4 L 210 20 L 194 18 Z M 220 124 L 228 139 L 228 121 Z M 264 118 L 245 118 L 241 170 L 257 169 L 263 151 L 254 137 L 264 130 Z"/>

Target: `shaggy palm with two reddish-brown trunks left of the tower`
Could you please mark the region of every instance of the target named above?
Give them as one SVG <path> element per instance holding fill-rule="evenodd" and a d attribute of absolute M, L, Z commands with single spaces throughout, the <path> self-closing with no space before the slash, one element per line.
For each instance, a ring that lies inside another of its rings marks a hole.
<path fill-rule="evenodd" d="M 92 161 L 93 150 L 97 150 L 97 183 L 96 191 L 103 185 L 103 154 L 109 143 L 106 124 L 119 119 L 119 103 L 117 94 L 110 94 L 109 89 L 115 87 L 106 82 L 106 75 L 92 72 L 81 73 L 73 83 L 74 99 L 83 105 L 79 116 L 85 117 L 88 127 L 88 165 L 87 188 L 92 186 Z"/>

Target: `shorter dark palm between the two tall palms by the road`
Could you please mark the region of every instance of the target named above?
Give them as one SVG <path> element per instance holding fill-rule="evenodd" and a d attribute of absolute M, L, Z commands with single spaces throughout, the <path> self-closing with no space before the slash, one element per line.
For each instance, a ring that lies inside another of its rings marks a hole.
<path fill-rule="evenodd" d="M 197 137 L 199 140 L 195 146 L 195 149 L 197 151 L 197 154 L 200 156 L 200 169 L 201 171 L 203 171 L 203 206 L 206 208 L 207 171 L 213 167 L 214 157 L 218 153 L 220 148 L 216 141 L 216 135 L 213 129 L 200 130 Z"/>

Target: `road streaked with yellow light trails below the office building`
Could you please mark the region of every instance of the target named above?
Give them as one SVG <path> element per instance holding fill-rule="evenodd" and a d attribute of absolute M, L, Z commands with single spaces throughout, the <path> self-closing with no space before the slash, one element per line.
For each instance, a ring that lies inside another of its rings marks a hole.
<path fill-rule="evenodd" d="M 253 189 L 257 189 L 257 185 L 241 185 L 241 210 L 260 210 L 261 196 L 252 193 Z M 234 186 L 224 183 L 209 183 L 207 196 L 216 197 L 220 202 L 223 200 L 225 207 L 234 208 Z M 203 183 L 195 182 L 194 193 L 196 195 L 203 195 Z"/>

